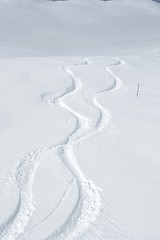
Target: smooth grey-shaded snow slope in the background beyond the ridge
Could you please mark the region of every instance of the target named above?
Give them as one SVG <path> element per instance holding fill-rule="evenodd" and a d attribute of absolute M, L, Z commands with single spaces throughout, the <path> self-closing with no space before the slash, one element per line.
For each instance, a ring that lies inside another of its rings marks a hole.
<path fill-rule="evenodd" d="M 159 46 L 159 6 L 151 0 L 4 2 L 1 57 L 104 56 Z"/>

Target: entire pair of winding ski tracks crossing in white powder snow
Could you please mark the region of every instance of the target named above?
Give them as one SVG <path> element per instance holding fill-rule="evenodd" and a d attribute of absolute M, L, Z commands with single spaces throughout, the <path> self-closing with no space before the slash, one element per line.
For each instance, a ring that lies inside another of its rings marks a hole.
<path fill-rule="evenodd" d="M 74 75 L 74 73 L 71 71 L 71 68 L 76 65 L 87 66 L 89 64 L 94 64 L 87 58 L 84 58 L 82 63 L 62 68 L 67 78 L 66 88 L 62 91 L 62 93 L 60 93 L 58 96 L 52 96 L 51 94 L 47 93 L 42 95 L 42 98 L 45 99 L 49 104 L 54 104 L 67 115 L 69 115 L 69 117 L 74 118 L 76 121 L 75 128 L 61 143 L 57 144 L 56 146 L 38 149 L 21 159 L 15 173 L 16 182 L 19 189 L 19 202 L 13 213 L 3 224 L 1 224 L 0 239 L 23 239 L 23 237 L 27 235 L 25 228 L 35 210 L 32 195 L 34 176 L 40 162 L 44 157 L 47 157 L 48 152 L 53 149 L 56 150 L 65 167 L 73 175 L 72 183 L 76 181 L 78 187 L 78 197 L 72 212 L 62 226 L 55 230 L 45 240 L 81 239 L 81 237 L 84 236 L 85 232 L 87 232 L 91 226 L 96 227 L 96 221 L 101 215 L 104 207 L 103 193 L 102 190 L 99 189 L 91 180 L 89 180 L 81 171 L 74 155 L 74 147 L 85 139 L 92 138 L 94 135 L 102 132 L 107 127 L 111 119 L 110 111 L 105 109 L 97 99 L 98 96 L 103 92 L 114 91 L 122 86 L 122 80 L 111 71 L 111 67 L 124 65 L 125 62 L 119 58 L 115 59 L 116 62 L 107 65 L 105 69 L 113 77 L 113 83 L 111 86 L 107 86 L 104 90 L 98 91 L 94 95 L 91 94 L 90 98 L 87 98 L 87 100 L 85 99 L 90 107 L 92 106 L 96 109 L 96 119 L 90 119 L 89 116 L 83 116 L 65 103 L 65 98 L 69 98 L 69 96 L 74 96 L 80 92 L 83 93 L 84 85 L 82 84 L 81 80 Z M 66 189 L 62 198 L 57 204 L 56 209 L 63 202 L 67 192 L 68 191 Z M 52 214 L 55 213 L 56 209 L 54 209 L 49 216 L 29 230 L 28 233 L 32 232 L 34 228 L 47 220 Z M 112 224 L 116 225 L 116 223 Z M 115 228 L 118 229 L 119 227 L 115 226 Z M 118 231 L 120 230 L 118 229 L 115 233 L 117 237 L 119 236 L 117 233 Z M 97 239 L 99 238 L 97 237 Z M 123 236 L 121 239 L 129 238 Z"/>

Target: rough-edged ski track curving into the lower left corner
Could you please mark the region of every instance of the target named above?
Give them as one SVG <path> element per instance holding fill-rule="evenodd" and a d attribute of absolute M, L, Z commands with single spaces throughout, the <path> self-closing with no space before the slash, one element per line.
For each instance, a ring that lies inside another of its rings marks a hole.
<path fill-rule="evenodd" d="M 32 185 L 34 176 L 41 160 L 46 156 L 47 149 L 38 149 L 22 157 L 16 168 L 16 182 L 19 191 L 18 204 L 1 225 L 0 239 L 14 240 L 24 232 L 30 218 L 34 213 Z"/>

